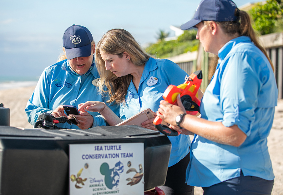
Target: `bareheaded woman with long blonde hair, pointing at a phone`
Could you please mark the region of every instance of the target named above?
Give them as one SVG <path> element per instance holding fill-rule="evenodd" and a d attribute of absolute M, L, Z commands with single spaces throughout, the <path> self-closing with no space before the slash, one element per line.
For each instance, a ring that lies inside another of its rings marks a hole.
<path fill-rule="evenodd" d="M 134 37 L 124 29 L 109 30 L 98 42 L 95 60 L 101 80 L 99 91 L 108 92 L 110 102 L 120 104 L 120 118 L 150 108 L 156 112 L 166 88 L 184 83 L 187 75 L 177 64 L 169 60 L 157 60 L 139 46 Z M 106 86 L 106 88 L 105 88 Z M 101 102 L 86 102 L 79 110 L 99 111 L 110 125 L 121 119 Z M 154 129 L 149 119 L 143 127 Z M 194 194 L 194 187 L 185 184 L 185 168 L 190 161 L 188 135 L 169 137 L 172 149 L 166 183 L 161 188 L 165 194 Z"/>

